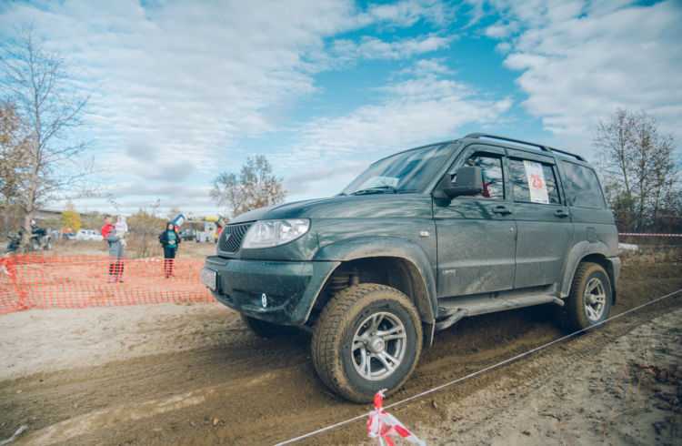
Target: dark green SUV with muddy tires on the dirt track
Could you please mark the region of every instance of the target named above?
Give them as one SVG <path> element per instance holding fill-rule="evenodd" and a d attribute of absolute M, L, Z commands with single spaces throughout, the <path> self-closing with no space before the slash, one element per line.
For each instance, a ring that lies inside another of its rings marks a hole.
<path fill-rule="evenodd" d="M 320 378 L 364 402 L 467 316 L 551 302 L 567 329 L 602 324 L 619 270 L 585 159 L 473 134 L 377 161 L 336 197 L 240 215 L 202 281 L 258 335 L 311 331 Z"/>

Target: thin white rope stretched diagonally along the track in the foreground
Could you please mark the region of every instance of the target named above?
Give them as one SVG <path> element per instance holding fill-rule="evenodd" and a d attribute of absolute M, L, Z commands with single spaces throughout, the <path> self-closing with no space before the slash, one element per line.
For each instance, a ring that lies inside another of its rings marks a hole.
<path fill-rule="evenodd" d="M 440 386 L 435 387 L 435 388 L 433 388 L 433 389 L 429 389 L 429 390 L 423 391 L 423 392 L 418 393 L 418 394 L 416 394 L 416 395 L 414 395 L 414 396 L 411 396 L 411 397 L 409 397 L 409 398 L 406 398 L 405 400 L 396 401 L 396 402 L 394 402 L 393 404 L 389 404 L 388 406 L 385 406 L 384 409 L 385 409 L 385 410 L 386 410 L 386 409 L 390 409 L 390 408 L 392 408 L 392 407 L 396 407 L 396 406 L 399 405 L 399 404 L 404 404 L 404 403 L 406 403 L 407 401 L 416 400 L 417 398 L 424 397 L 424 396 L 426 396 L 426 395 L 428 395 L 428 394 L 430 394 L 430 393 L 433 393 L 433 392 L 435 392 L 435 391 L 437 391 L 437 390 L 442 390 L 442 389 L 445 389 L 446 387 L 452 386 L 452 385 L 457 384 L 457 383 L 459 383 L 459 382 L 462 382 L 462 381 L 464 381 L 464 380 L 468 380 L 468 379 L 470 379 L 470 378 L 474 378 L 474 377 L 476 377 L 476 376 L 478 376 L 478 375 L 481 375 L 481 374 L 483 374 L 483 373 L 486 373 L 487 371 L 495 370 L 495 369 L 497 369 L 498 367 L 502 367 L 502 366 L 504 366 L 504 365 L 506 365 L 506 364 L 509 364 L 510 362 L 514 362 L 515 360 L 520 360 L 521 358 L 525 358 L 525 357 L 527 357 L 528 355 L 531 355 L 531 354 L 535 353 L 535 352 L 538 351 L 538 350 L 546 349 L 547 347 L 550 347 L 550 346 L 552 346 L 552 345 L 554 345 L 554 344 L 557 344 L 558 342 L 561 342 L 561 341 L 563 341 L 563 340 L 567 340 L 567 339 L 569 339 L 569 338 L 572 338 L 572 337 L 574 337 L 574 336 L 576 336 L 576 335 L 578 335 L 578 334 L 580 334 L 580 333 L 583 333 L 583 332 L 585 332 L 585 331 L 588 331 L 588 330 L 590 330 L 590 329 L 596 329 L 597 327 L 601 327 L 601 326 L 605 325 L 607 322 L 609 322 L 609 321 L 611 321 L 611 320 L 615 320 L 615 319 L 621 318 L 621 317 L 623 317 L 623 316 L 625 316 L 625 315 L 627 315 L 627 314 L 629 314 L 629 313 L 632 313 L 633 311 L 637 311 L 638 309 L 643 309 L 643 308 L 647 307 L 648 305 L 652 305 L 652 304 L 658 302 L 659 300 L 663 300 L 663 299 L 667 299 L 667 298 L 669 298 L 669 297 L 671 297 L 671 296 L 675 296 L 676 294 L 678 294 L 678 293 L 680 293 L 680 292 L 682 292 L 682 289 L 677 289 L 677 291 L 674 291 L 674 292 L 672 292 L 672 293 L 670 293 L 670 294 L 667 294 L 666 296 L 663 296 L 663 297 L 661 297 L 661 298 L 658 298 L 658 299 L 652 300 L 652 301 L 650 301 L 650 302 L 647 302 L 647 303 L 645 303 L 645 304 L 642 304 L 642 305 L 640 305 L 639 307 L 636 307 L 636 308 L 634 308 L 634 309 L 628 309 L 627 311 L 624 311 L 624 312 L 622 312 L 622 313 L 620 313 L 620 314 L 614 316 L 613 318 L 609 318 L 609 319 L 605 320 L 604 322 L 600 323 L 598 326 L 593 326 L 593 327 L 588 327 L 587 329 L 580 329 L 580 330 L 577 330 L 576 332 L 571 333 L 571 334 L 568 334 L 568 335 L 564 336 L 563 338 L 559 338 L 559 339 L 557 339 L 557 340 L 552 340 L 551 342 L 547 342 L 547 344 L 545 344 L 545 345 L 541 345 L 540 347 L 536 347 L 535 349 L 528 350 L 528 351 L 525 352 L 525 353 L 521 353 L 521 354 L 515 356 L 514 358 L 510 358 L 510 359 L 508 359 L 508 360 L 503 360 L 502 362 L 498 362 L 498 363 L 496 363 L 495 365 L 492 365 L 492 366 L 490 366 L 490 367 L 486 367 L 485 369 L 482 369 L 482 370 L 475 371 L 475 372 L 473 372 L 473 373 L 470 373 L 470 374 L 468 374 L 468 375 L 466 375 L 466 376 L 463 376 L 463 377 L 461 377 L 461 378 L 457 378 L 457 379 L 454 380 L 454 381 L 450 381 L 450 382 L 448 382 L 448 383 L 446 383 L 446 384 L 440 385 Z M 369 413 L 370 413 L 370 412 L 367 412 L 367 413 L 365 413 L 365 414 L 363 414 L 363 415 L 358 415 L 358 416 L 356 416 L 356 417 L 354 417 L 354 418 L 351 418 L 351 419 L 349 419 L 349 420 L 337 422 L 336 424 L 333 424 L 333 425 L 331 425 L 331 426 L 327 426 L 326 428 L 318 429 L 317 431 L 308 432 L 308 433 L 306 433 L 305 435 L 301 435 L 300 437 L 296 437 L 296 438 L 293 438 L 293 439 L 291 439 L 291 440 L 282 441 L 281 443 L 277 443 L 276 446 L 280 446 L 280 445 L 284 445 L 284 444 L 290 444 L 290 443 L 293 443 L 293 442 L 296 442 L 296 441 L 299 441 L 299 440 L 304 440 L 304 439 L 306 439 L 306 438 L 313 437 L 313 436 L 315 436 L 315 435 L 317 435 L 317 434 L 319 434 L 319 433 L 322 433 L 322 432 L 331 431 L 332 429 L 336 429 L 336 428 L 338 428 L 338 427 L 341 427 L 341 426 L 343 426 L 343 425 L 345 425 L 345 424 L 348 424 L 348 423 L 351 423 L 351 422 L 353 422 L 353 421 L 362 420 L 363 418 L 365 418 L 366 416 L 368 416 Z"/>

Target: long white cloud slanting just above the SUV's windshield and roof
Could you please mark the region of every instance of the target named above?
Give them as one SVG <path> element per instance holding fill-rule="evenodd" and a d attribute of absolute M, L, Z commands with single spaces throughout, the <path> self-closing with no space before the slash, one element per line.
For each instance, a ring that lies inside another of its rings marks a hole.
<path fill-rule="evenodd" d="M 300 129 L 296 147 L 277 154 L 276 164 L 296 172 L 294 178 L 306 178 L 306 192 L 316 190 L 321 197 L 329 196 L 380 157 L 462 137 L 466 127 L 478 129 L 502 119 L 512 105 L 508 98 L 482 99 L 485 95 L 472 86 L 431 74 L 396 82 L 380 92 L 385 97 L 381 104 L 307 123 Z M 349 163 L 350 159 L 354 162 Z M 317 177 L 320 171 L 328 175 Z"/>

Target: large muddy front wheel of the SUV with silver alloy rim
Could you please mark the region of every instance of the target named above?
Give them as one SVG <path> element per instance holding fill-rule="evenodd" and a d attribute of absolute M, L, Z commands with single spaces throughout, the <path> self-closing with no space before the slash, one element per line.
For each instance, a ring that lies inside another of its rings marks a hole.
<path fill-rule="evenodd" d="M 399 389 L 415 370 L 422 327 L 414 304 L 397 289 L 359 284 L 327 302 L 313 331 L 320 379 L 348 400 L 371 401 Z"/>

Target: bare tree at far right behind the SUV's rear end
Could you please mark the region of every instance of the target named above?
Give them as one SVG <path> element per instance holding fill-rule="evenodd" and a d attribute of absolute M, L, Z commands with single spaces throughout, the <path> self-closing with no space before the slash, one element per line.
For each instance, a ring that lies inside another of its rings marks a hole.
<path fill-rule="evenodd" d="M 599 122 L 593 144 L 620 228 L 659 226 L 662 208 L 676 195 L 672 135 L 661 134 L 656 117 L 645 110 L 632 114 L 619 108 L 610 121 Z"/>

